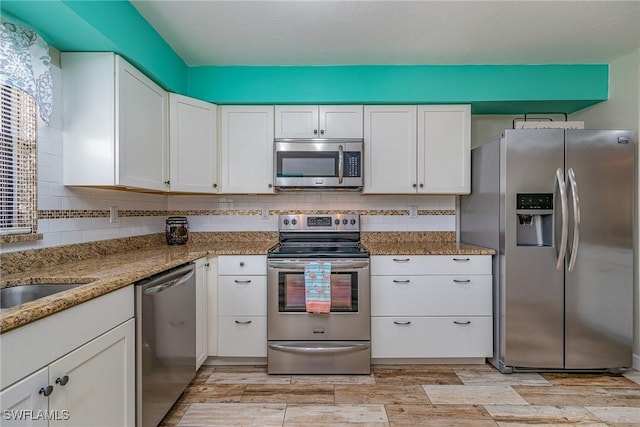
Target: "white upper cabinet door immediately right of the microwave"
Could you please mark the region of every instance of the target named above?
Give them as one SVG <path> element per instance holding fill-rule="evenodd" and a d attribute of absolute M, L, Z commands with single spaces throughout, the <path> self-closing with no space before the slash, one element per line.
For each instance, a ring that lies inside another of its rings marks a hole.
<path fill-rule="evenodd" d="M 416 106 L 364 108 L 364 193 L 416 192 Z"/>

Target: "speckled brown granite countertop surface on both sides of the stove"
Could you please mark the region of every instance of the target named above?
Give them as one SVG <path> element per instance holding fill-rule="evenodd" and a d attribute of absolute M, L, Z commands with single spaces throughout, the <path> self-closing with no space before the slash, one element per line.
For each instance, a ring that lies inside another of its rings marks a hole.
<path fill-rule="evenodd" d="M 138 280 L 199 258 L 215 255 L 265 255 L 275 241 L 202 242 L 158 246 L 5 275 L 0 287 L 28 283 L 82 285 L 0 311 L 0 334 L 126 287 Z M 442 241 L 363 242 L 371 255 L 492 255 L 492 249 Z"/>

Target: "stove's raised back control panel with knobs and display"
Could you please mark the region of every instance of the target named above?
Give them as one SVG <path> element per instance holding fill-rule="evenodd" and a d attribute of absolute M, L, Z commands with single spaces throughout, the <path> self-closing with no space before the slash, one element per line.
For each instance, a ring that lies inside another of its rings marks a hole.
<path fill-rule="evenodd" d="M 299 214 L 280 215 L 278 231 L 360 231 L 360 215 L 357 214 Z"/>

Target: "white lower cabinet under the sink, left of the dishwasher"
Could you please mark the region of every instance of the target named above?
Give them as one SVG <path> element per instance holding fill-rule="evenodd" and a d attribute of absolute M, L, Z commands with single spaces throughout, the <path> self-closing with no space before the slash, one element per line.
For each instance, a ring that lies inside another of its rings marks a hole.
<path fill-rule="evenodd" d="M 134 426 L 133 286 L 0 335 L 3 426 Z"/>

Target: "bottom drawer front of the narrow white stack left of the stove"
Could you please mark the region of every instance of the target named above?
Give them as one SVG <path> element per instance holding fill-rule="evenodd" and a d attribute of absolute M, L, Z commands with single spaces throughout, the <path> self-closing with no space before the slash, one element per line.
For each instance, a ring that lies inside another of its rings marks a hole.
<path fill-rule="evenodd" d="M 220 316 L 218 356 L 267 357 L 266 316 Z"/>

